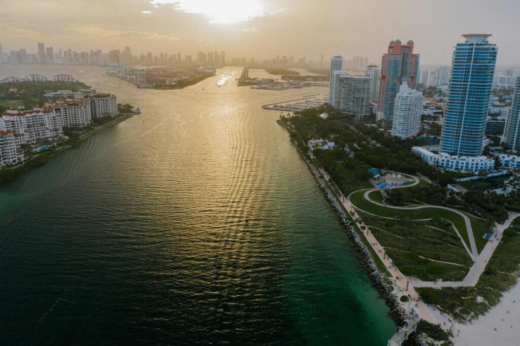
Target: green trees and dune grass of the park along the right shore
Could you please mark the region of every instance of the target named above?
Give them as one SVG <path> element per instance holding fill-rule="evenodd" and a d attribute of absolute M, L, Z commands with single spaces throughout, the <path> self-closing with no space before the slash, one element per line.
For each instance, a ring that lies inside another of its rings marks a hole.
<path fill-rule="evenodd" d="M 326 119 L 319 117 L 323 113 L 328 114 Z M 432 207 L 446 206 L 463 211 L 471 219 L 478 252 L 487 243 L 483 235 L 492 230 L 495 222 L 504 222 L 508 217 L 505 206 L 513 204 L 518 199 L 518 196 L 505 198 L 480 190 L 470 190 L 465 195 L 450 194 L 446 185 L 456 182 L 455 179 L 464 175 L 460 172 L 443 172 L 422 162 L 409 150 L 415 145 L 414 140 L 396 140 L 386 136 L 384 132 L 377 131 L 372 116 L 356 122 L 353 115 L 337 112 L 325 105 L 295 113 L 293 117 L 281 115 L 277 122 L 288 130 L 291 142 L 313 172 L 320 188 L 342 221 L 342 212 L 346 211 L 339 207 L 342 203 L 338 202 L 338 196 L 373 188 L 369 183 L 370 176 L 367 172 L 367 169 L 372 167 L 429 178 L 426 179 L 428 181 L 419 179 L 419 184 L 406 189 L 389 190 L 385 194 L 377 191 L 371 193 L 370 197 L 376 202 L 388 205 L 429 204 Z M 312 155 L 315 157 L 311 157 L 308 153 L 307 140 L 315 136 L 333 137 L 337 149 L 315 150 Z M 330 180 L 320 181 L 323 177 L 317 176 L 313 168 L 326 171 L 330 175 Z M 329 190 L 324 189 L 323 184 L 326 184 Z M 355 195 L 355 198 L 358 203 L 367 204 L 367 201 L 361 198 L 362 194 Z M 370 207 L 375 209 L 374 205 L 370 204 Z M 385 208 L 378 207 L 378 209 L 380 211 Z M 472 266 L 473 260 L 465 253 L 461 246 L 462 239 L 459 240 L 449 220 L 445 220 L 445 216 L 440 215 L 442 213 L 439 215 L 433 213 L 428 221 L 414 220 L 411 210 L 410 215 L 405 212 L 401 214 L 397 218 L 394 216 L 393 219 L 385 219 L 379 215 L 359 211 L 359 215 L 370 231 L 376 235 L 378 241 L 387 249 L 389 256 L 395 260 L 396 266 L 405 275 L 418 277 L 424 281 L 458 281 L 464 277 Z M 384 264 L 379 263 L 378 255 L 374 253 L 370 244 L 366 243 L 365 237 L 360 236 L 362 231 L 356 230 L 356 223 L 348 212 L 346 218 L 348 220 L 344 223 L 346 229 L 358 235 L 357 240 L 354 239 L 354 244 L 360 249 L 363 267 L 367 269 L 374 286 L 389 302 L 394 320 L 400 323 L 404 317 L 404 311 L 399 310 L 397 302 L 400 297 L 396 296 L 395 291 L 382 288 L 385 284 L 392 286 L 392 283 L 389 283 L 390 274 Z M 454 221 L 460 225 L 460 220 L 454 219 Z M 462 234 L 462 237 L 467 242 L 467 234 Z M 359 247 L 358 243 L 365 245 L 365 248 Z M 517 218 L 511 227 L 504 231 L 501 243 L 475 286 L 417 287 L 415 290 L 425 303 L 450 315 L 454 320 L 463 323 L 471 322 L 498 304 L 504 292 L 517 283 L 520 273 L 520 254 L 517 254 L 515 249 L 519 247 L 520 218 Z M 451 250 L 455 251 L 456 255 L 453 255 Z M 373 263 L 375 267 L 366 263 Z M 374 275 L 374 269 L 378 274 Z M 451 344 L 448 334 L 442 328 L 425 321 L 421 323 L 417 334 L 412 335 L 406 344 L 419 342 L 424 337 L 421 335 L 423 332 L 430 339 Z"/>

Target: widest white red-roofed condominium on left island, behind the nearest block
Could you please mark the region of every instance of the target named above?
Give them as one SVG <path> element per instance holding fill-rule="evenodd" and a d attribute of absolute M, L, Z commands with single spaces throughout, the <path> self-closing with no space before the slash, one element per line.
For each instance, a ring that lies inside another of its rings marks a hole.
<path fill-rule="evenodd" d="M 61 116 L 48 109 L 7 110 L 2 120 L 3 130 L 12 131 L 22 143 L 63 136 Z"/>

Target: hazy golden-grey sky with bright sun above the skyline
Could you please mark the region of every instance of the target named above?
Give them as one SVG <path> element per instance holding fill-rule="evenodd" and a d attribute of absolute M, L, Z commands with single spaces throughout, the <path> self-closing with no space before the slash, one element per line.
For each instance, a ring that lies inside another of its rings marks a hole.
<path fill-rule="evenodd" d="M 226 50 L 226 58 L 340 54 L 378 62 L 413 39 L 422 64 L 447 64 L 470 32 L 491 33 L 499 64 L 520 62 L 519 0 L 0 0 L 4 51 L 46 46 Z"/>

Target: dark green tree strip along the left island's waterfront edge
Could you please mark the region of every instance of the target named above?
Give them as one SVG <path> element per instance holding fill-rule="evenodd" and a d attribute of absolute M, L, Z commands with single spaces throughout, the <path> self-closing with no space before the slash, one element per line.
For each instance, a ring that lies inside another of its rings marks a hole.
<path fill-rule="evenodd" d="M 121 109 L 120 107 L 118 107 L 118 109 L 123 111 L 120 112 L 118 115 L 115 115 L 114 117 L 97 118 L 93 121 L 94 124 L 96 124 L 97 126 L 90 126 L 83 132 L 77 132 L 74 129 L 64 129 L 64 134 L 66 134 L 69 137 L 67 141 L 56 145 L 56 147 L 50 147 L 47 151 L 35 154 L 33 157 L 31 157 L 24 163 L 19 164 L 15 167 L 4 167 L 0 169 L 0 185 L 20 177 L 22 174 L 28 172 L 33 168 L 45 165 L 51 158 L 57 156 L 61 152 L 77 147 L 77 145 L 80 145 L 81 142 L 94 136 L 98 132 L 101 132 L 102 130 L 108 127 L 125 121 L 126 119 L 135 114 L 134 112 L 131 112 L 131 105 L 129 104 L 118 106 L 122 106 Z"/>

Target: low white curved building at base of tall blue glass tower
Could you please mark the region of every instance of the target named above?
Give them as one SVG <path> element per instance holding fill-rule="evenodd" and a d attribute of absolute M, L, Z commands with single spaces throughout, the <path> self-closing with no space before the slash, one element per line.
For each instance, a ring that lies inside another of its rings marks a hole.
<path fill-rule="evenodd" d="M 412 152 L 419 155 L 428 165 L 437 166 L 446 170 L 479 172 L 495 169 L 495 160 L 486 156 L 456 156 L 446 153 L 435 154 L 422 147 L 413 147 Z"/>

